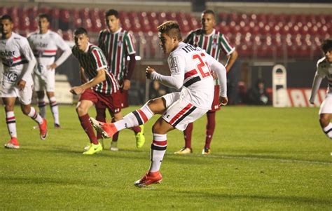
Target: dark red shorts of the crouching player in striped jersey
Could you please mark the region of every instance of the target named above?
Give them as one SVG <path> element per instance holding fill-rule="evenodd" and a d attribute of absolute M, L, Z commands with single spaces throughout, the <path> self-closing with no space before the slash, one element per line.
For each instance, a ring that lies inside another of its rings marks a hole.
<path fill-rule="evenodd" d="M 112 94 L 97 93 L 92 89 L 87 89 L 82 93 L 79 101 L 89 100 L 95 104 L 96 108 L 108 108 L 116 114 L 121 111 L 121 95 L 120 92 Z"/>

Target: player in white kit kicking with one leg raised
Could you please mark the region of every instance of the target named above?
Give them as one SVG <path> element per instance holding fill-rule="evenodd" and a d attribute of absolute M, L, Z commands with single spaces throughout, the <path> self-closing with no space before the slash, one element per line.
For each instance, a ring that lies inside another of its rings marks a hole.
<path fill-rule="evenodd" d="M 214 83 L 212 69 L 218 74 L 221 82 L 220 101 L 227 104 L 226 69 L 201 48 L 195 48 L 181 41 L 179 25 L 175 21 L 167 21 L 158 27 L 160 46 L 163 53 L 168 54 L 170 76 L 158 74 L 151 67 L 146 68 L 146 78 L 159 81 L 180 92 L 170 93 L 149 100 L 143 107 L 127 114 L 115 123 L 102 123 L 90 118 L 92 125 L 102 132 L 104 137 L 124 128 L 146 123 L 154 114 L 161 114 L 152 128 L 153 142 L 151 144 L 150 169 L 141 179 L 134 182 L 135 186 L 143 187 L 160 183 L 160 165 L 167 147 L 167 132 L 185 130 L 188 123 L 195 121 L 211 109 L 214 98 Z"/>

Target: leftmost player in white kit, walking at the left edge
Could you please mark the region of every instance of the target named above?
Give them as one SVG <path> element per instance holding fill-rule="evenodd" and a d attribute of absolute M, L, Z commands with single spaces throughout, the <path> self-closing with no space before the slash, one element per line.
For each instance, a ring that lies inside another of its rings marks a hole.
<path fill-rule="evenodd" d="M 36 64 L 34 53 L 29 42 L 23 36 L 13 32 L 13 20 L 9 15 L 0 18 L 0 62 L 3 64 L 1 78 L 1 97 L 5 105 L 6 123 L 11 140 L 5 144 L 8 149 L 19 149 L 18 136 L 16 133 L 16 121 L 14 106 L 16 97 L 20 100 L 23 114 L 31 117 L 39 124 L 41 139 L 46 139 L 47 123 L 34 107 L 32 100 L 32 71 Z"/>

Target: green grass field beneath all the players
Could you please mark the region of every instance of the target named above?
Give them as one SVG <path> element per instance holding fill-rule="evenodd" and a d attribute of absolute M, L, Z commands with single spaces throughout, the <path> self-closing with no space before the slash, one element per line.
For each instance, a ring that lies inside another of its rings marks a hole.
<path fill-rule="evenodd" d="M 223 107 L 212 155 L 200 154 L 204 116 L 194 124 L 191 155 L 173 154 L 184 141 L 170 132 L 164 180 L 144 189 L 133 182 L 150 163 L 155 117 L 146 123 L 142 149 L 125 130 L 120 151 L 83 156 L 88 139 L 74 107 L 60 107 L 61 130 L 49 118 L 46 141 L 15 109 L 21 149 L 0 148 L 0 210 L 332 210 L 332 142 L 319 128 L 317 108 Z M 5 144 L 4 109 L 0 119 Z"/>

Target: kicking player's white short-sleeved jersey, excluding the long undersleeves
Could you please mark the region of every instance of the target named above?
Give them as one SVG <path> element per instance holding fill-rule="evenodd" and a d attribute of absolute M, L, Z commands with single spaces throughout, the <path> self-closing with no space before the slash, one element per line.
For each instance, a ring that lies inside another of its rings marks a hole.
<path fill-rule="evenodd" d="M 214 98 L 214 82 L 208 57 L 213 60 L 205 50 L 181 42 L 167 60 L 172 76 L 184 76 L 182 96 L 202 109 L 211 109 Z"/>

